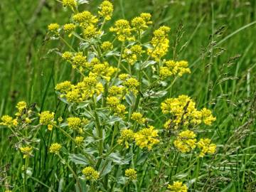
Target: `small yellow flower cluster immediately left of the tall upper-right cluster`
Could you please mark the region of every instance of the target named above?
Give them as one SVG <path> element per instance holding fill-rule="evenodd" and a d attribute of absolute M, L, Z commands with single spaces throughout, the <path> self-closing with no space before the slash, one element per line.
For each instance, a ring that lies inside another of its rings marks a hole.
<path fill-rule="evenodd" d="M 142 53 L 145 51 L 142 50 L 142 46 L 134 45 L 131 48 L 125 48 L 124 53 L 122 54 L 122 58 L 127 60 L 127 63 L 130 65 L 134 65 L 137 62 L 138 58 L 141 57 Z"/>

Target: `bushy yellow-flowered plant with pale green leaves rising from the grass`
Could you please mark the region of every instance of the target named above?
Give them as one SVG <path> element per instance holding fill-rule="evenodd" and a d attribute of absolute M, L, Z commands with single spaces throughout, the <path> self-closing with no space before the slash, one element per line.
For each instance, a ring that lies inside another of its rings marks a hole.
<path fill-rule="evenodd" d="M 51 23 L 48 35 L 66 44 L 63 63 L 80 78 L 55 86 L 68 114 L 38 114 L 22 101 L 16 117 L 1 117 L 16 135 L 24 169 L 41 129 L 55 135 L 48 151 L 73 175 L 77 191 L 187 191 L 191 183 L 178 177 L 186 172 L 178 169 L 178 159 L 196 164 L 215 153 L 216 145 L 198 132 L 215 117 L 206 108 L 198 110 L 191 97 L 166 96 L 178 78 L 191 73 L 186 60 L 165 59 L 170 28 L 160 26 L 145 41 L 151 14 L 119 19 L 106 28 L 113 12 L 110 1 L 100 4 L 97 15 L 79 12 L 75 0 L 63 0 L 63 6 L 73 11 L 70 23 Z M 59 134 L 66 139 L 58 139 Z M 148 171 L 154 172 L 151 184 L 144 182 Z"/>

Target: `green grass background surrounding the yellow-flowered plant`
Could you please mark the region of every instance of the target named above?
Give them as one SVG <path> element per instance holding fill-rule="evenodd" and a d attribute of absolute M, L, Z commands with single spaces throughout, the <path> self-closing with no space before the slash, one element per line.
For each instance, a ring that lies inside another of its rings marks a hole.
<path fill-rule="evenodd" d="M 80 9 L 97 11 L 99 3 L 94 0 Z M 208 190 L 256 190 L 256 1 L 114 0 L 114 7 L 110 25 L 117 18 L 149 12 L 151 30 L 171 26 L 167 58 L 188 60 L 192 73 L 178 79 L 169 95 L 190 95 L 199 108 L 209 107 L 217 117 L 207 128 L 218 144 Z M 68 22 L 69 14 L 53 0 L 0 1 L 0 116 L 13 114 L 19 100 L 55 111 L 55 84 L 74 77 L 53 50 L 65 46 L 48 41 L 46 32 L 49 23 Z M 0 165 L 10 163 L 12 175 L 19 165 L 17 152 L 10 148 L 7 129 L 0 133 Z M 43 175 L 41 171 L 35 177 L 50 185 Z"/>

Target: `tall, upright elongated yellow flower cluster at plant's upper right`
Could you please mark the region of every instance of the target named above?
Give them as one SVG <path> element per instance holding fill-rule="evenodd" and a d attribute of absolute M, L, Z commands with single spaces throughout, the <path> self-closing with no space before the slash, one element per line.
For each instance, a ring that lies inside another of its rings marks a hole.
<path fill-rule="evenodd" d="M 148 48 L 148 55 L 159 61 L 169 49 L 168 33 L 171 29 L 166 26 L 161 26 L 154 31 L 154 37 L 151 39 L 152 48 Z"/>

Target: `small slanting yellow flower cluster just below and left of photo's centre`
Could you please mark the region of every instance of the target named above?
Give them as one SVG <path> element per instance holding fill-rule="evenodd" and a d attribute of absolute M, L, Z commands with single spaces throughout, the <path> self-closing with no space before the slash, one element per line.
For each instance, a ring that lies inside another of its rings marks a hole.
<path fill-rule="evenodd" d="M 119 117 L 124 117 L 124 114 L 127 114 L 125 105 L 120 104 L 118 97 L 107 97 L 107 106 Z"/>

